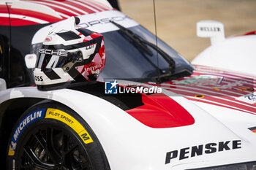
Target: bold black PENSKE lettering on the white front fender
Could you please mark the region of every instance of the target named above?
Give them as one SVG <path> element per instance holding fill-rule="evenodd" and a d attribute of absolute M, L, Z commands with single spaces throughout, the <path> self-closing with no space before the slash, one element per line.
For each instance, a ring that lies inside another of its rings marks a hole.
<path fill-rule="evenodd" d="M 218 143 L 212 142 L 192 147 L 185 147 L 180 150 L 173 150 L 167 152 L 165 157 L 165 164 L 170 163 L 172 159 L 183 160 L 204 154 L 211 154 L 214 152 L 241 149 L 241 145 L 241 140 L 233 140 Z"/>

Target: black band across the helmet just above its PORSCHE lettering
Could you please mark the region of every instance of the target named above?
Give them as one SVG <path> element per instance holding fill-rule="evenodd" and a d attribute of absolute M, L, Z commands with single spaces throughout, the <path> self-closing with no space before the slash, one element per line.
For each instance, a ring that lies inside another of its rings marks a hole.
<path fill-rule="evenodd" d="M 74 49 L 81 48 L 81 47 L 86 47 L 86 46 L 89 46 L 89 45 L 92 45 L 92 44 L 95 44 L 95 43 L 101 44 L 102 38 L 103 38 L 103 36 L 99 36 L 95 39 L 91 39 L 88 42 L 80 42 L 80 43 L 75 44 L 75 45 L 62 45 L 62 44 L 59 44 L 59 45 L 42 45 L 42 48 L 49 49 L 49 50 L 61 50 L 61 49 L 74 50 Z"/>

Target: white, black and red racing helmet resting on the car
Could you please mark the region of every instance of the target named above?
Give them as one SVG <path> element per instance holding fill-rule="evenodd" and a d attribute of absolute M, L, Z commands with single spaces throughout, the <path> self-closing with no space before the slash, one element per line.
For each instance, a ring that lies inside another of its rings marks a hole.
<path fill-rule="evenodd" d="M 53 28 L 39 48 L 34 78 L 39 90 L 97 80 L 105 66 L 102 34 L 80 28 L 69 18 Z"/>

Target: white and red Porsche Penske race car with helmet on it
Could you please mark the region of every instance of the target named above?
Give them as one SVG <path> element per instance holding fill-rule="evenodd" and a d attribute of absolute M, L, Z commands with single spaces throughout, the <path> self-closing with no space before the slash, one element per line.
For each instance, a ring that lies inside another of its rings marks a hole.
<path fill-rule="evenodd" d="M 211 53 L 255 35 L 203 21 L 192 65 L 108 1 L 1 1 L 0 18 L 3 169 L 255 169 L 255 72 Z"/>

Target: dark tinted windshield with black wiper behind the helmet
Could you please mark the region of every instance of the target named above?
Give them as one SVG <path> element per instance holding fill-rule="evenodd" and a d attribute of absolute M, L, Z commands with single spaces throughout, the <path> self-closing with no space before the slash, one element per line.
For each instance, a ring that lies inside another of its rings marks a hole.
<path fill-rule="evenodd" d="M 142 26 L 134 26 L 129 28 L 129 30 L 134 34 L 138 34 L 138 36 L 146 41 L 156 44 L 155 36 Z M 143 50 L 138 42 L 130 39 L 120 30 L 102 34 L 105 41 L 106 63 L 98 80 L 121 79 L 148 82 L 153 81 L 152 77 L 157 77 L 159 71 L 161 74 L 168 74 L 170 72 L 170 63 L 160 54 L 158 54 L 157 61 L 157 50 L 154 48 L 147 46 L 148 50 L 151 51 L 151 53 L 148 53 L 146 50 Z M 161 40 L 158 39 L 157 43 L 158 47 L 175 61 L 175 72 L 173 74 L 185 72 L 185 74 L 179 76 L 183 77 L 192 73 L 193 68 L 188 61 Z M 39 44 L 33 45 L 32 52 L 37 51 L 39 47 Z"/>

